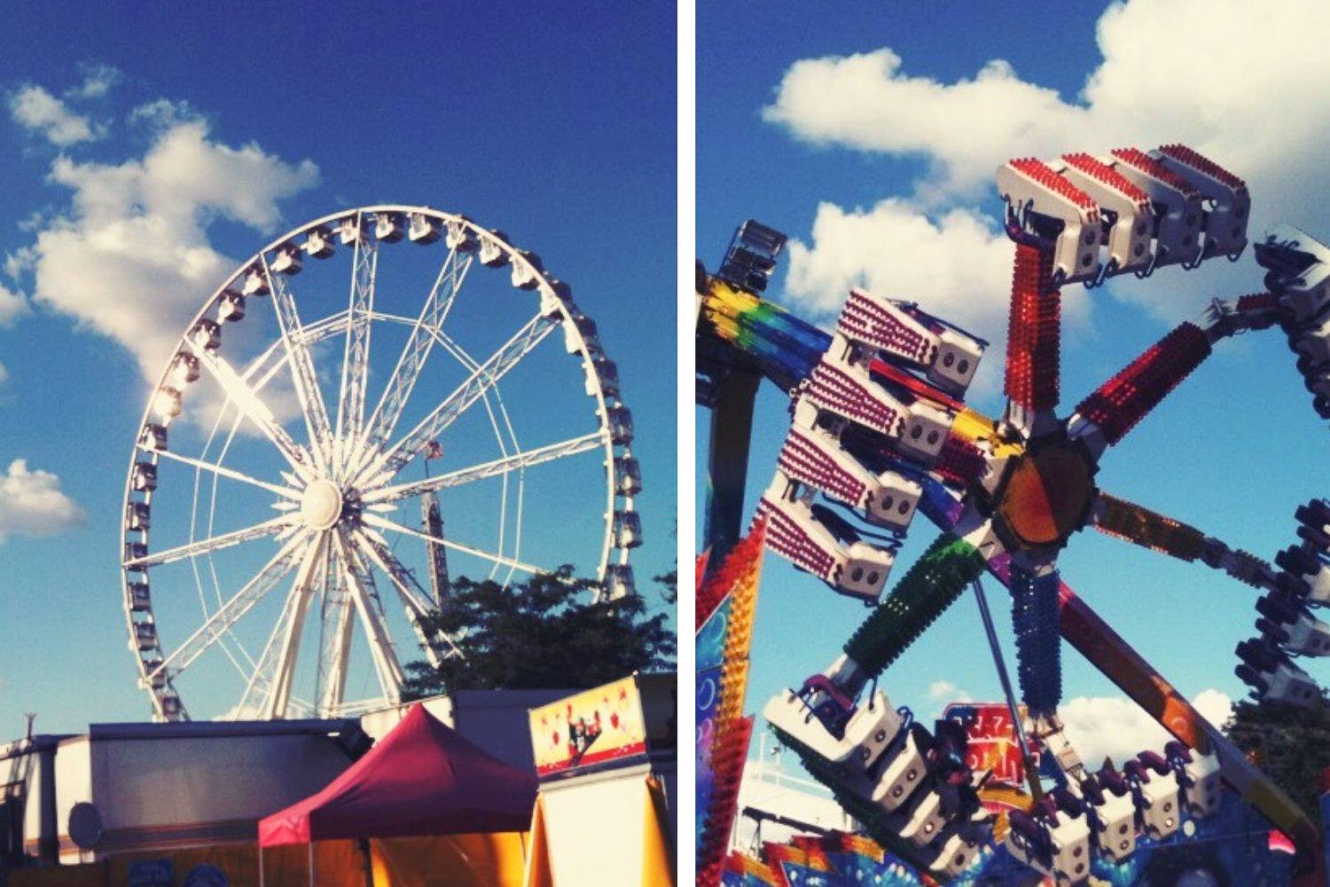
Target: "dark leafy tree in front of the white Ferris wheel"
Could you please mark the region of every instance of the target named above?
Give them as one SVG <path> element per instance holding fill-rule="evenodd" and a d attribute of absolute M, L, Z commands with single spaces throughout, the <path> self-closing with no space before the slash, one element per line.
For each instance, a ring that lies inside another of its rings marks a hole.
<path fill-rule="evenodd" d="M 673 668 L 674 633 L 666 614 L 646 616 L 646 601 L 629 596 L 591 604 L 596 582 L 571 567 L 504 588 L 454 580 L 444 605 L 424 628 L 463 638 L 466 658 L 407 665 L 404 698 L 446 690 L 583 689 L 633 672 Z"/>

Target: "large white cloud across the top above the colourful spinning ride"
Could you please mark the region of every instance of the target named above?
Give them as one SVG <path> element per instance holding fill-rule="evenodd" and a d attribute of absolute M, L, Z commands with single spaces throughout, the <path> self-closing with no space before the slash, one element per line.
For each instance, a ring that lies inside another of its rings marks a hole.
<path fill-rule="evenodd" d="M 1321 77 L 1311 48 L 1330 28 L 1330 7 L 1294 0 L 1279 11 L 1241 0 L 1115 3 L 1096 29 L 1103 59 L 1076 101 L 1003 60 L 940 82 L 910 76 L 884 48 L 795 63 L 765 116 L 809 141 L 926 157 L 950 190 L 987 186 L 1009 157 L 1161 141 L 1213 152 L 1256 182 L 1289 182 L 1317 172 L 1330 129 L 1330 96 L 1295 88 Z"/>

